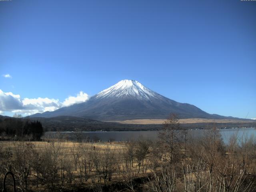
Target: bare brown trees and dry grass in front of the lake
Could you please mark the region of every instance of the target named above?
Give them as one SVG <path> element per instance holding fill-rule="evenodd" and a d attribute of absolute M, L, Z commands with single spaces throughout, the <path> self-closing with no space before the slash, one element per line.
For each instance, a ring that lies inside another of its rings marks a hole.
<path fill-rule="evenodd" d="M 175 116 L 158 141 L 129 143 L 2 141 L 0 179 L 7 170 L 22 191 L 249 192 L 256 190 L 256 142 L 218 130 L 194 140 L 177 134 Z M 180 133 L 180 132 L 179 132 Z M 2 187 L 2 186 L 1 186 Z"/>

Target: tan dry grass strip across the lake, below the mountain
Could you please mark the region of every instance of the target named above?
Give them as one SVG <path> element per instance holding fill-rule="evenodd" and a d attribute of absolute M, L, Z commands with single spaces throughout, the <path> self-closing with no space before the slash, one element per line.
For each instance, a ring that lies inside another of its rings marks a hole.
<path fill-rule="evenodd" d="M 123 124 L 162 124 L 165 119 L 133 119 L 133 120 L 122 120 L 122 121 L 108 121 L 118 122 Z M 252 122 L 253 120 L 239 120 L 239 119 L 202 119 L 202 118 L 190 118 L 180 119 L 180 124 L 186 123 L 242 123 Z"/>

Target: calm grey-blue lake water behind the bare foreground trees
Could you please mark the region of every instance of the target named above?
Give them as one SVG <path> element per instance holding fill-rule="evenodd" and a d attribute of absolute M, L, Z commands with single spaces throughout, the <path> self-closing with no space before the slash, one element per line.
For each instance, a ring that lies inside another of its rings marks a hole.
<path fill-rule="evenodd" d="M 204 134 L 206 130 L 188 130 L 188 137 L 200 137 Z M 89 140 L 96 141 L 101 140 L 106 141 L 130 141 L 137 140 L 142 137 L 145 139 L 156 140 L 158 139 L 159 131 L 95 131 L 95 132 L 46 132 L 44 138 L 52 138 L 61 135 L 67 140 Z M 228 142 L 232 136 L 237 136 L 238 139 L 256 139 L 256 129 L 255 128 L 234 128 L 234 129 L 222 129 L 220 134 L 224 142 Z"/>

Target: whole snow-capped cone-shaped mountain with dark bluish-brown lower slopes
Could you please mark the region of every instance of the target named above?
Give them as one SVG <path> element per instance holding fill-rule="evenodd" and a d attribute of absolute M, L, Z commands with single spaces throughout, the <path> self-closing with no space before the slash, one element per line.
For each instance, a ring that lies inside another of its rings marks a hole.
<path fill-rule="evenodd" d="M 30 117 L 75 116 L 108 121 L 166 119 L 170 113 L 177 114 L 179 118 L 227 118 L 166 98 L 136 80 L 121 80 L 86 102 Z"/>

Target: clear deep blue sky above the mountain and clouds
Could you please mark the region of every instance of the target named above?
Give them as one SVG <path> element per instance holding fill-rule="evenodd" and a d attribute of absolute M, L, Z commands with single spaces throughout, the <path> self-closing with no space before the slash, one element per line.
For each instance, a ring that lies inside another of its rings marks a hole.
<path fill-rule="evenodd" d="M 11 97 L 58 108 L 132 79 L 211 114 L 256 118 L 255 18 L 255 1 L 0 1 L 0 111 L 28 112 L 6 107 Z"/>

